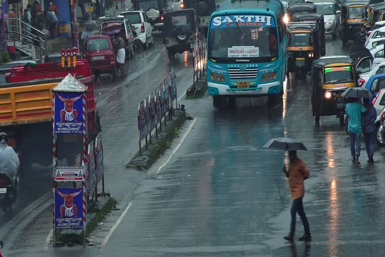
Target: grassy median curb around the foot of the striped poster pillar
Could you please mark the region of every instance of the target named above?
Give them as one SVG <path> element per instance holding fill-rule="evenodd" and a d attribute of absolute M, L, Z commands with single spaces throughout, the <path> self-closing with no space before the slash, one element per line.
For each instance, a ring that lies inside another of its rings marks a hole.
<path fill-rule="evenodd" d="M 110 197 L 109 193 L 98 194 L 98 202 L 89 201 L 87 205 L 87 228 L 86 237 L 98 226 L 106 215 L 115 208 L 117 201 Z M 102 206 L 99 206 L 101 202 Z M 64 230 L 57 235 L 56 246 L 72 246 L 74 244 L 82 245 L 84 242 L 84 233 L 80 230 Z"/>

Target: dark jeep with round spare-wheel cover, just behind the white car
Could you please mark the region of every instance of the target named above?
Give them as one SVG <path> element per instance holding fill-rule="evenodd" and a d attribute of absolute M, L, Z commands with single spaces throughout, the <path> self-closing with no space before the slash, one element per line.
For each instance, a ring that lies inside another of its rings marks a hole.
<path fill-rule="evenodd" d="M 148 18 L 152 19 L 151 26 L 154 30 L 163 30 L 163 15 L 168 11 L 166 0 L 136 0 L 131 9 L 146 12 Z"/>

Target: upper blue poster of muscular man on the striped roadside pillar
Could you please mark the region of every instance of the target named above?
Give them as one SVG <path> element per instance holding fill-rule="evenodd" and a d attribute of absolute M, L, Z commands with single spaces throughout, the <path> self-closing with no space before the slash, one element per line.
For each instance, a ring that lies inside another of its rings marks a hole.
<path fill-rule="evenodd" d="M 55 93 L 55 133 L 83 134 L 83 94 Z"/>

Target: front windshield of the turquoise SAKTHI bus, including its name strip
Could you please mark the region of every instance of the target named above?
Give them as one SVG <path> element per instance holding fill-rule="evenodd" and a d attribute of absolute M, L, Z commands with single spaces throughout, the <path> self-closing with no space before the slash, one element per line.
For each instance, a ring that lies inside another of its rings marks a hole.
<path fill-rule="evenodd" d="M 237 19 L 238 23 L 233 22 Z M 210 58 L 277 57 L 278 38 L 274 19 L 255 15 L 214 17 L 208 49 Z"/>

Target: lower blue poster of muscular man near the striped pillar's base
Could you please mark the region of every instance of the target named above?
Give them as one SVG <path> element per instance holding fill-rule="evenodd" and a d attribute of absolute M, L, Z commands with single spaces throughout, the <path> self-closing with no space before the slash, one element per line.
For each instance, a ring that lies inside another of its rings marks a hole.
<path fill-rule="evenodd" d="M 83 189 L 55 188 L 55 227 L 83 229 Z"/>

